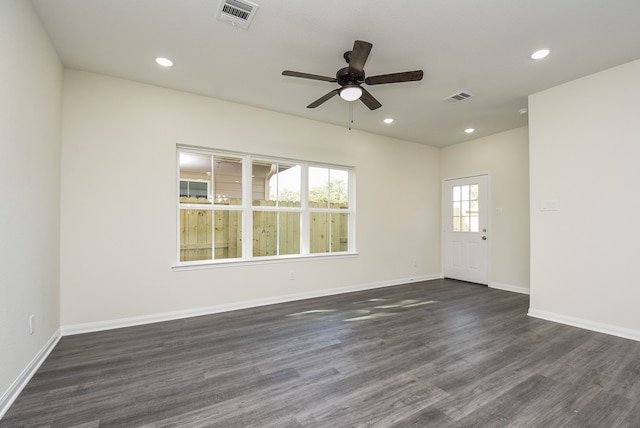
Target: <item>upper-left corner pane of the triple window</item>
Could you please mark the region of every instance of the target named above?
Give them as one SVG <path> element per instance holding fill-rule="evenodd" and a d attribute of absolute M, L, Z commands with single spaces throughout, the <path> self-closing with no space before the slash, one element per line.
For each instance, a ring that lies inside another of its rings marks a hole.
<path fill-rule="evenodd" d="M 211 156 L 180 152 L 180 202 L 210 204 Z"/>

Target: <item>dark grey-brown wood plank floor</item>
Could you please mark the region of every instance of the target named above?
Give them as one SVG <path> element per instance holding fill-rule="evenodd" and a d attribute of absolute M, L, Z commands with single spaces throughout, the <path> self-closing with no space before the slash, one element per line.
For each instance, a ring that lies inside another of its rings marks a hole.
<path fill-rule="evenodd" d="M 0 427 L 639 427 L 640 343 L 435 280 L 63 337 Z"/>

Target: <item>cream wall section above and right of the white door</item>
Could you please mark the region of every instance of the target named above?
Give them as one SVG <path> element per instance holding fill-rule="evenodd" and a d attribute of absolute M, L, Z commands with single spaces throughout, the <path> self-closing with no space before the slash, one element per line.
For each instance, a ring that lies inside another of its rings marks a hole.
<path fill-rule="evenodd" d="M 442 179 L 489 173 L 489 285 L 529 290 L 529 135 L 526 127 L 440 150 Z M 502 208 L 502 215 L 496 209 Z"/>

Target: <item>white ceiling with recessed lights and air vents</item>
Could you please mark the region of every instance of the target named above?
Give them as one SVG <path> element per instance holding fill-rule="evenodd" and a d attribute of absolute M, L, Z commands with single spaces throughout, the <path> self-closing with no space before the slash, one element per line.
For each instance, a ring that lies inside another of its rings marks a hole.
<path fill-rule="evenodd" d="M 216 20 L 220 0 L 33 4 L 66 67 L 345 127 L 353 105 L 354 128 L 434 146 L 524 126 L 527 95 L 640 58 L 639 0 L 252 1 L 247 30 Z M 307 109 L 337 84 L 281 72 L 333 77 L 356 39 L 373 43 L 367 76 L 423 69 L 424 79 L 368 86 L 375 111 L 339 97 Z M 529 59 L 541 47 L 551 55 Z M 459 91 L 474 97 L 442 101 Z"/>

